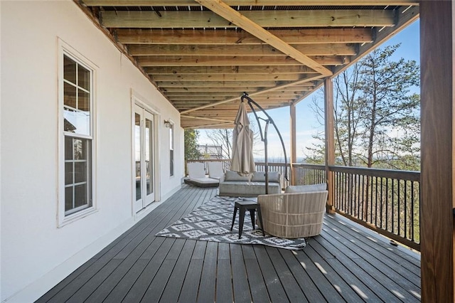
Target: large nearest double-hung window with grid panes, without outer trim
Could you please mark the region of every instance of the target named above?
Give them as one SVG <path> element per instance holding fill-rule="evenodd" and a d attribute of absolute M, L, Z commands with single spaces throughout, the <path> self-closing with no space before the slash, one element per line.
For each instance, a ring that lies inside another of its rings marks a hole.
<path fill-rule="evenodd" d="M 93 206 L 93 69 L 63 50 L 60 76 L 60 129 L 63 129 L 64 193 L 60 212 L 65 218 Z"/>

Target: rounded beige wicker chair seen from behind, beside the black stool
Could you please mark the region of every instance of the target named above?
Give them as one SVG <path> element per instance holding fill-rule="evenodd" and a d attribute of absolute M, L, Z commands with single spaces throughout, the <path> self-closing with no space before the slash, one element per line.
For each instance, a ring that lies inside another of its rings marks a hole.
<path fill-rule="evenodd" d="M 261 195 L 264 231 L 280 238 L 306 238 L 322 230 L 328 191 Z"/>

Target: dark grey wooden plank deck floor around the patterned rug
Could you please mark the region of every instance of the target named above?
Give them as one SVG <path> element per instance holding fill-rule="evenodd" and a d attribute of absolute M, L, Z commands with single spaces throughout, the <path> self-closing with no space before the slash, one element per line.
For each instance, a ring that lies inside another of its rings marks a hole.
<path fill-rule="evenodd" d="M 419 302 L 418 255 L 340 216 L 304 250 L 155 237 L 218 188 L 184 185 L 38 302 Z"/>

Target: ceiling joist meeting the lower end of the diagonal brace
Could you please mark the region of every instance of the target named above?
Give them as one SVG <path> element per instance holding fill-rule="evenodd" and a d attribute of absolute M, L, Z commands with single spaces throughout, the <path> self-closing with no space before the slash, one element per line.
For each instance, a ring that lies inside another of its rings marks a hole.
<path fill-rule="evenodd" d="M 303 65 L 263 65 L 263 66 L 151 66 L 144 71 L 149 75 L 199 75 L 199 74 L 307 74 L 316 73 Z"/>

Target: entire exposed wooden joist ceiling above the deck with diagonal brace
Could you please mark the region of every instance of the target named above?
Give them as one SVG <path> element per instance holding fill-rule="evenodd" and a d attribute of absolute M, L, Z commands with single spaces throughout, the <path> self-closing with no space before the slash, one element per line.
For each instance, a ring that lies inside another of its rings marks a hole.
<path fill-rule="evenodd" d="M 232 127 L 244 92 L 295 107 L 419 16 L 417 0 L 73 1 L 195 128 Z"/>

